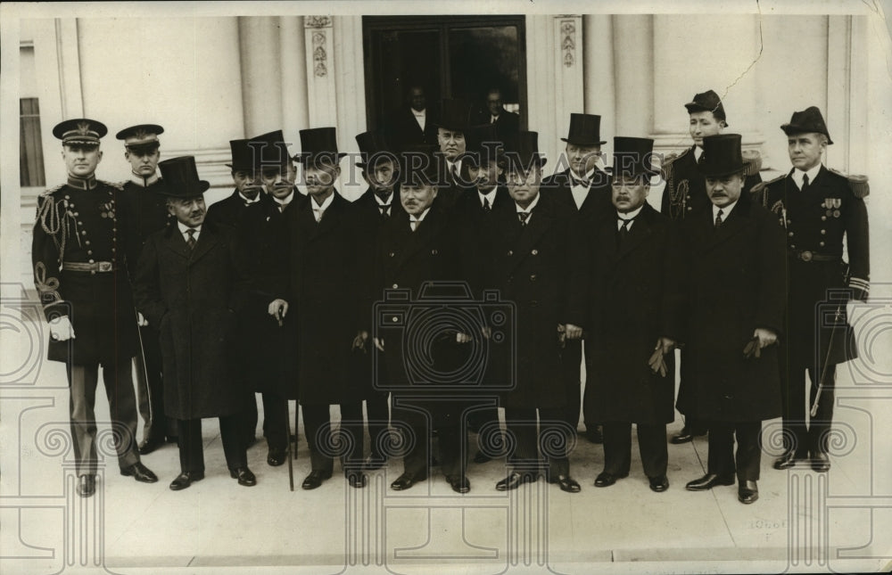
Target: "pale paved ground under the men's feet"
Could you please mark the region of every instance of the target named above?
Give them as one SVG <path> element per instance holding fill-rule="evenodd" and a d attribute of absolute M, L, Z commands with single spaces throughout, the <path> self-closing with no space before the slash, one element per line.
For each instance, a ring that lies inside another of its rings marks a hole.
<path fill-rule="evenodd" d="M 705 438 L 670 445 L 663 494 L 648 489 L 637 448 L 628 479 L 595 488 L 602 450 L 581 438 L 571 458 L 579 494 L 542 480 L 500 493 L 505 466 L 496 460 L 472 464 L 472 490 L 459 496 L 442 475 L 388 489 L 399 460 L 371 473 L 366 489 L 335 474 L 302 491 L 310 464 L 301 430 L 296 490 L 286 466 L 266 464 L 262 440 L 249 451 L 258 485 L 244 488 L 228 477 L 215 420 L 204 425 L 205 480 L 168 489 L 178 452 L 167 446 L 144 458 L 158 483 L 120 476 L 112 458 L 97 495 L 84 500 L 73 491 L 62 366 L 29 360 L 23 349 L 39 342 L 39 330 L 13 328 L 5 334 L 19 345 L 4 339 L 4 363 L 25 367 L 0 403 L 4 573 L 876 571 L 892 556 L 890 394 L 859 389 L 857 370 L 840 373 L 830 473 L 777 472 L 765 455 L 755 505 L 739 504 L 736 487 L 684 489 L 704 472 Z M 97 403 L 107 419 L 104 399 Z M 678 418 L 670 432 L 680 426 Z M 776 450 L 778 431 L 779 422 L 765 424 L 766 450 Z"/>

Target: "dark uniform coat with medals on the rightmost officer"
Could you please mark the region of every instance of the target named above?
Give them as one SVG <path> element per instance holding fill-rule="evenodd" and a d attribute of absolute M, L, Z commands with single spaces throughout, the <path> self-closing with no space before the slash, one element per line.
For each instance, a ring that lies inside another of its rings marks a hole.
<path fill-rule="evenodd" d="M 834 365 L 858 357 L 846 302 L 867 298 L 871 274 L 867 208 L 841 174 L 822 166 L 803 193 L 792 173 L 766 183 L 756 196 L 787 230 L 791 363 L 800 369 L 814 367 L 820 373 L 824 362 Z M 844 237 L 848 265 L 843 257 Z M 811 260 L 802 259 L 804 251 L 812 255 Z M 851 279 L 847 280 L 847 273 Z M 849 286 L 856 293 L 848 292 Z M 835 303 L 830 300 L 834 292 L 843 294 Z"/>

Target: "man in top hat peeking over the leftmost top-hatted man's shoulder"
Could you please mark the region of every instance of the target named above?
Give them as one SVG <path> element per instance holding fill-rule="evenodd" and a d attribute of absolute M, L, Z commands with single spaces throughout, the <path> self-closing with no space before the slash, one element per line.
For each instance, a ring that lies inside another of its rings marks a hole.
<path fill-rule="evenodd" d="M 270 198 L 263 193 L 258 145 L 252 144 L 251 140 L 230 140 L 229 149 L 232 163 L 227 166 L 232 170 L 235 190 L 228 198 L 211 204 L 208 220 L 234 227 L 243 209 L 258 201 L 270 201 Z"/>

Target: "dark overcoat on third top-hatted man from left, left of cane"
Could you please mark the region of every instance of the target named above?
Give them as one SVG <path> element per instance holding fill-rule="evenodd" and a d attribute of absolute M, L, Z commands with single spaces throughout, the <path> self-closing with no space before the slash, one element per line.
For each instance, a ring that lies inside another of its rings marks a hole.
<path fill-rule="evenodd" d="M 292 308 L 278 324 L 269 303 L 287 300 L 290 240 L 286 219 L 307 201 L 294 193 L 280 211 L 275 202 L 257 202 L 244 210 L 236 226 L 241 267 L 248 276 L 244 306 L 239 312 L 239 374 L 259 393 L 297 398 L 297 321 Z"/>

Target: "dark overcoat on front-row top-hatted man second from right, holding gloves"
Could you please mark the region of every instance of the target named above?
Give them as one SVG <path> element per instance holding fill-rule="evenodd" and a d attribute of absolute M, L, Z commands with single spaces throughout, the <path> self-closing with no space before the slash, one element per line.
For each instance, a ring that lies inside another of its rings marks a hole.
<path fill-rule="evenodd" d="M 574 290 L 591 342 L 586 370 L 592 389 L 585 394 L 585 413 L 599 422 L 671 423 L 674 353 L 665 356 L 665 376 L 650 370 L 648 358 L 658 338 L 681 341 L 684 270 L 677 230 L 646 203 L 622 246 L 615 217 L 601 218 L 586 232 L 587 288 Z"/>

